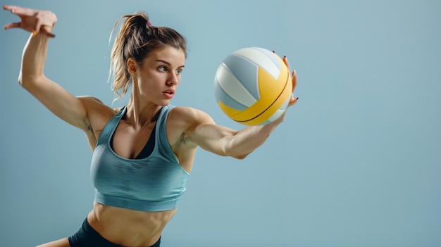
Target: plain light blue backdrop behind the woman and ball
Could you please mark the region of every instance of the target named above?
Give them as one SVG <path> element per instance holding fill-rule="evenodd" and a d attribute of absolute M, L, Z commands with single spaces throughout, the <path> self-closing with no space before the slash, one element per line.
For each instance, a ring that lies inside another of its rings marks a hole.
<path fill-rule="evenodd" d="M 46 76 L 108 105 L 108 37 L 136 10 L 188 39 L 173 104 L 220 125 L 241 127 L 213 99 L 225 56 L 261 46 L 290 59 L 299 103 L 245 160 L 198 151 L 162 246 L 441 246 L 441 1 L 1 4 L 54 11 Z M 0 246 L 70 236 L 94 195 L 84 134 L 17 83 L 27 37 L 0 31 Z"/>

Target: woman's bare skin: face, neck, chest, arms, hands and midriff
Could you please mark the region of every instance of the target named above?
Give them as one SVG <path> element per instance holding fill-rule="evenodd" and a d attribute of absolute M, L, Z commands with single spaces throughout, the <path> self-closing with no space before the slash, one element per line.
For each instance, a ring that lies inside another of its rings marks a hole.
<path fill-rule="evenodd" d="M 54 13 L 18 6 L 4 6 L 4 9 L 20 17 L 20 23 L 10 23 L 4 29 L 22 28 L 32 32 L 23 52 L 18 82 L 59 118 L 82 129 L 93 152 L 104 125 L 118 109 L 90 96 L 75 97 L 44 76 L 47 45 L 49 38 L 55 37 L 51 33 L 56 23 Z M 284 61 L 287 63 L 286 58 Z M 152 118 L 161 106 L 170 103 L 178 89 L 185 67 L 185 51 L 166 46 L 152 51 L 142 64 L 135 63 L 132 58 L 127 63 L 133 79 L 132 94 L 127 114 L 116 129 L 113 149 L 119 156 L 135 158 L 149 139 L 155 124 L 151 122 Z M 292 77 L 295 87 L 295 72 Z M 297 103 L 297 99 L 292 97 L 290 106 Z M 198 146 L 220 156 L 242 159 L 261 146 L 284 118 L 285 114 L 268 125 L 249 126 L 237 131 L 216 125 L 201 110 L 176 107 L 168 115 L 166 134 L 180 165 L 191 172 Z M 94 203 L 87 220 L 101 236 L 113 243 L 151 246 L 158 241 L 176 210 L 144 212 Z M 64 238 L 42 246 L 69 246 L 69 243 Z"/>

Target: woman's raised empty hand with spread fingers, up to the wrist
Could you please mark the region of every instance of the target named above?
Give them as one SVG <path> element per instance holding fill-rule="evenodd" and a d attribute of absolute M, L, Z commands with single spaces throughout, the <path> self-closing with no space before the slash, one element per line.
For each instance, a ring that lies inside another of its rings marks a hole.
<path fill-rule="evenodd" d="M 4 30 L 9 28 L 22 28 L 23 30 L 32 32 L 34 36 L 41 32 L 47 37 L 55 37 L 51 31 L 56 23 L 56 15 L 51 11 L 37 11 L 18 6 L 3 6 L 3 9 L 11 11 L 11 13 L 20 17 L 19 23 L 9 23 L 3 27 Z"/>

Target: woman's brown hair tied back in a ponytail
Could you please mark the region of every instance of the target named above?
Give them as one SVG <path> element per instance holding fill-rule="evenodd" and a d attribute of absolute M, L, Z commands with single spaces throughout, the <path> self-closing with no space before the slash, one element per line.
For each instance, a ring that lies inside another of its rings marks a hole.
<path fill-rule="evenodd" d="M 127 61 L 134 58 L 141 65 L 144 58 L 155 49 L 173 46 L 182 49 L 187 57 L 187 42 L 185 37 L 170 27 L 156 27 L 149 23 L 149 15 L 137 11 L 132 15 L 123 15 L 113 25 L 115 30 L 120 20 L 123 20 L 111 51 L 111 66 L 109 78 L 113 75 L 112 90 L 118 99 L 122 98 L 132 84 L 132 76 L 128 72 Z M 112 37 L 112 34 L 111 34 Z"/>

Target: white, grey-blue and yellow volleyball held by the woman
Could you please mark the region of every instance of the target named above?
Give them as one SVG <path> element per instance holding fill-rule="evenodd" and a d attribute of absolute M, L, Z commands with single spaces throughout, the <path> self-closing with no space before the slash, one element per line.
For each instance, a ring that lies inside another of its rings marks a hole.
<path fill-rule="evenodd" d="M 243 125 L 264 125 L 287 109 L 292 77 L 273 51 L 247 47 L 231 53 L 218 66 L 214 94 L 228 118 Z"/>

